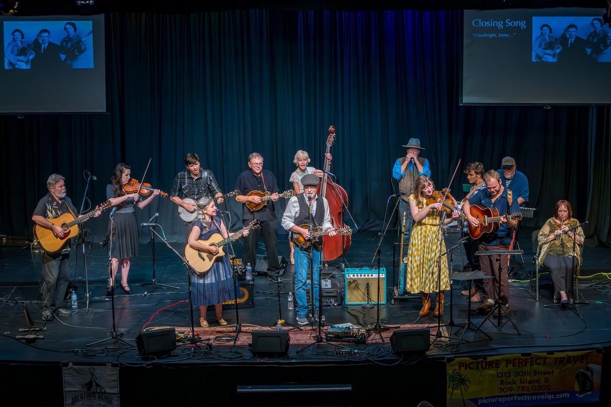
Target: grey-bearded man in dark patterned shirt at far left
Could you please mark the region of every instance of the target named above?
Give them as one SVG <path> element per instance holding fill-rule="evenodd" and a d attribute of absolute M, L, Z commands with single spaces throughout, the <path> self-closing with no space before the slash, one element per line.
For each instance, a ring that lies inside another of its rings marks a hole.
<path fill-rule="evenodd" d="M 42 200 L 38 202 L 32 220 L 43 228 L 53 231 L 56 236 L 64 237 L 64 230 L 61 226 L 49 222 L 48 219 L 60 217 L 63 214 L 72 214 L 76 218 L 78 211 L 72 201 L 66 196 L 65 178 L 59 174 L 49 176 L 46 181 L 49 190 Z M 93 217 L 101 214 L 99 209 L 95 209 Z M 45 275 L 43 286 L 43 311 L 42 319 L 49 321 L 53 319 L 53 314 L 70 315 L 70 311 L 62 308 L 64 294 L 68 288 L 68 283 L 73 276 L 70 275 L 70 245 L 59 253 L 42 253 L 42 270 Z"/>

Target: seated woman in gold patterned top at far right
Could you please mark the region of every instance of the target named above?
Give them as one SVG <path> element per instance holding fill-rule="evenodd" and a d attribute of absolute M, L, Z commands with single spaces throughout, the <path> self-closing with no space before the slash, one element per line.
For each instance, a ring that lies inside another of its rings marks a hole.
<path fill-rule="evenodd" d="M 539 231 L 539 265 L 549 268 L 554 282 L 554 302 L 567 303 L 573 283 L 573 263 L 576 269 L 581 264 L 581 248 L 584 230 L 575 226 L 573 208 L 568 201 L 560 200 L 554 208 L 554 217 L 549 218 Z M 575 239 L 575 251 L 573 251 Z M 573 260 L 574 259 L 574 260 Z"/>

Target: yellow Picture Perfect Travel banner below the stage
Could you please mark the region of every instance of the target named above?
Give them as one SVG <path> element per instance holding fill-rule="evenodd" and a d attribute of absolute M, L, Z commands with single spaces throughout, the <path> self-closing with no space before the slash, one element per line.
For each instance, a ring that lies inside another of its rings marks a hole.
<path fill-rule="evenodd" d="M 601 369 L 595 350 L 458 358 L 447 363 L 447 405 L 598 402 Z"/>

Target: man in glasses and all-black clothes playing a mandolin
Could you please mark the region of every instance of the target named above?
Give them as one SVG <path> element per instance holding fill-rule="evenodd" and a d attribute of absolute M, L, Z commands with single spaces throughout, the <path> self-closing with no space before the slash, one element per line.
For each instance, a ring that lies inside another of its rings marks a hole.
<path fill-rule="evenodd" d="M 278 240 L 278 225 L 274 204 L 266 204 L 265 206 L 251 211 L 247 207 L 247 203 L 260 204 L 262 203 L 261 196 L 252 195 L 252 192 L 269 192 L 270 199 L 274 202 L 280 199 L 278 196 L 278 184 L 276 177 L 271 171 L 263 170 L 263 156 L 259 153 L 251 153 L 248 156 L 248 168 L 238 176 L 235 189 L 240 191 L 235 197 L 235 200 L 242 205 L 242 221 L 244 226 L 249 225 L 253 219 L 260 222 L 261 228 L 252 231 L 251 234 L 244 239 L 244 261 L 255 267 L 255 258 L 257 256 L 257 241 L 259 233 L 263 233 L 263 242 L 265 242 L 265 250 L 268 254 L 268 280 L 273 283 L 282 283 L 280 278 L 280 262 L 278 261 L 278 248 L 276 247 Z M 251 194 L 251 195 L 249 195 Z"/>

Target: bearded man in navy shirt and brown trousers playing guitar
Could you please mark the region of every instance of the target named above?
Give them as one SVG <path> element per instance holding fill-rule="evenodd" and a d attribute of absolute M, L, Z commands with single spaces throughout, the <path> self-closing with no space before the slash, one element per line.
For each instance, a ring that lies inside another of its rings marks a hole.
<path fill-rule="evenodd" d="M 486 190 L 480 190 L 471 196 L 463 204 L 463 211 L 467 216 L 467 221 L 473 227 L 479 226 L 477 218 L 470 214 L 470 207 L 472 205 L 481 205 L 485 207 L 492 207 L 499 211 L 499 215 L 503 214 L 500 218 L 499 229 L 496 232 L 485 234 L 481 237 L 479 250 L 490 251 L 490 250 L 509 250 L 509 243 L 511 242 L 511 228 L 518 226 L 517 220 L 510 220 L 506 214 L 519 214 L 520 207 L 518 200 L 514 199 L 511 190 L 503 187 L 500 181 L 500 175 L 495 170 L 489 170 L 484 174 L 484 181 L 486 182 Z M 507 281 L 507 267 L 509 260 L 507 255 L 503 254 L 492 254 L 492 256 L 480 256 L 480 267 L 481 271 L 485 275 L 494 276 L 496 281 L 492 281 L 491 278 L 484 279 L 484 289 L 488 300 L 477 308 L 478 314 L 488 314 L 488 311 L 494 307 L 496 301 L 501 301 L 505 311 L 509 309 L 509 290 Z M 500 298 L 499 292 L 496 288 L 498 279 L 500 278 Z"/>

